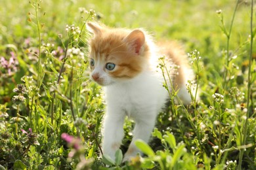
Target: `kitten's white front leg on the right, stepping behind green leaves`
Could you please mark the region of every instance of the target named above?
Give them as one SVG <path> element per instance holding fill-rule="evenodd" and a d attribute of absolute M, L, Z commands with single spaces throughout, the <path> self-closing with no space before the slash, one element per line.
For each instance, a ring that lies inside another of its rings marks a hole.
<path fill-rule="evenodd" d="M 135 146 L 135 141 L 138 139 L 142 139 L 148 143 L 152 130 L 154 129 L 156 121 L 156 112 L 152 113 L 152 115 L 146 114 L 140 120 L 135 120 L 135 129 L 133 131 L 133 140 L 125 153 L 125 157 L 123 161 L 129 160 L 131 157 L 136 156 L 140 151 L 138 150 L 137 146 Z"/>

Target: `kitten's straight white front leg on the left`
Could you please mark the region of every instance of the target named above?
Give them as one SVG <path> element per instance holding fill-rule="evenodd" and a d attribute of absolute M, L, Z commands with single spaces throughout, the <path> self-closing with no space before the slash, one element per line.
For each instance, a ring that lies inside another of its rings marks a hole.
<path fill-rule="evenodd" d="M 121 145 L 121 140 L 123 139 L 124 119 L 125 114 L 121 112 L 114 114 L 110 110 L 107 110 L 104 118 L 102 150 L 103 154 L 107 154 L 112 160 L 115 160 L 116 150 Z"/>

